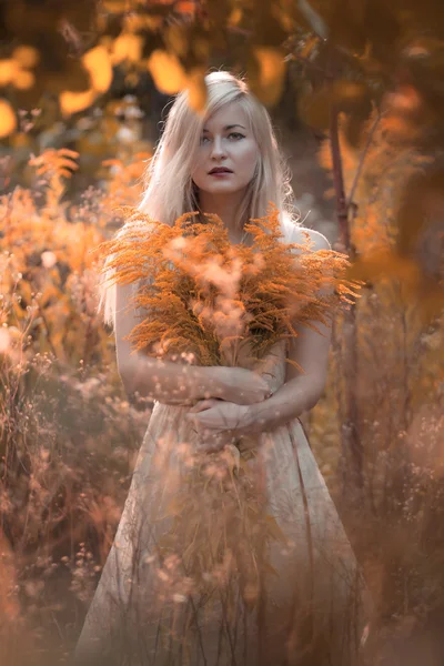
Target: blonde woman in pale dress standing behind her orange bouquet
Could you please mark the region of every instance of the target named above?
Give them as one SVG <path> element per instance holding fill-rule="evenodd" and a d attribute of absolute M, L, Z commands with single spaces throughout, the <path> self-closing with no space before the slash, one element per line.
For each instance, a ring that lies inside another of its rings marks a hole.
<path fill-rule="evenodd" d="M 265 109 L 229 73 L 209 74 L 206 85 L 204 118 L 188 107 L 186 93 L 175 99 L 142 209 L 169 223 L 189 211 L 216 213 L 235 244 L 250 242 L 244 222 L 264 215 L 271 201 L 281 211 L 284 241 L 302 242 Z M 314 250 L 329 248 L 321 234 L 309 233 Z M 127 390 L 155 403 L 78 659 L 354 664 L 361 578 L 297 418 L 322 394 L 329 329 L 301 329 L 295 342 L 275 345 L 266 372 L 179 366 L 131 353 L 125 336 L 141 314 L 128 312 L 133 291 L 108 287 L 101 305 L 114 325 Z M 250 452 L 241 467 L 244 496 L 234 509 L 218 504 L 211 485 L 199 493 L 186 485 L 190 451 L 200 445 L 211 455 L 233 440 Z"/>

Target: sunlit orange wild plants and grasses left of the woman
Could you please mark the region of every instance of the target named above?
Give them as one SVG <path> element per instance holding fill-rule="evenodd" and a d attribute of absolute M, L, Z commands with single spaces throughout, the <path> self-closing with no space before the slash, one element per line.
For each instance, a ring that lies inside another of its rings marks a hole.
<path fill-rule="evenodd" d="M 147 155 L 104 163 L 105 184 L 74 203 L 65 188 L 78 157 L 31 159 L 32 186 L 0 199 L 0 630 L 11 664 L 48 646 L 54 617 L 69 642 L 150 414 L 121 385 L 91 252 L 120 224 L 114 208 L 137 201 Z"/>

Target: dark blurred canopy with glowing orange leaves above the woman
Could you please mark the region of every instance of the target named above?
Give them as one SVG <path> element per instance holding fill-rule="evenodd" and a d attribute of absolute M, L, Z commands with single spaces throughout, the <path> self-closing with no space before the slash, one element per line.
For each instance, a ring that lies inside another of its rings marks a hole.
<path fill-rule="evenodd" d="M 385 127 L 398 140 L 425 150 L 443 144 L 441 0 L 18 0 L 0 12 L 0 139 L 14 161 L 10 186 L 30 153 L 70 148 L 80 153 L 82 175 L 73 182 L 82 191 L 103 159 L 121 159 L 130 145 L 151 150 L 171 95 L 188 90 L 201 111 L 203 77 L 219 67 L 245 74 L 270 109 L 290 103 L 295 90 L 286 119 L 329 135 L 333 152 L 337 115 L 344 141 L 361 154 L 375 113 L 390 117 Z M 346 240 L 354 202 L 341 203 L 334 162 Z M 404 236 L 415 233 L 406 210 L 398 215 Z"/>

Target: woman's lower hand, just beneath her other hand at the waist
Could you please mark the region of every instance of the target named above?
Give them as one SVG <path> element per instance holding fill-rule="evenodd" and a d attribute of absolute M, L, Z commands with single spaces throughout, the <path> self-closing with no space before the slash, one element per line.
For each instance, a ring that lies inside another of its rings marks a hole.
<path fill-rule="evenodd" d="M 193 421 L 198 432 L 208 440 L 209 448 L 223 448 L 251 428 L 250 408 L 223 400 L 202 400 L 192 407 L 186 417 Z"/>

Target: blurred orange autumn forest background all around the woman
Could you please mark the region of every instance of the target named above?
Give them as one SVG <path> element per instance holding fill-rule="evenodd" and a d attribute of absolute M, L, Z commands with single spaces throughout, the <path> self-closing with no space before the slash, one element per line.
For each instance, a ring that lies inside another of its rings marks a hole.
<path fill-rule="evenodd" d="M 304 415 L 374 601 L 370 664 L 442 663 L 441 0 L 0 4 L 0 623 L 4 664 L 63 663 L 150 415 L 98 317 L 91 250 L 139 201 L 171 95 L 245 74 L 295 208 L 365 282 Z"/>

